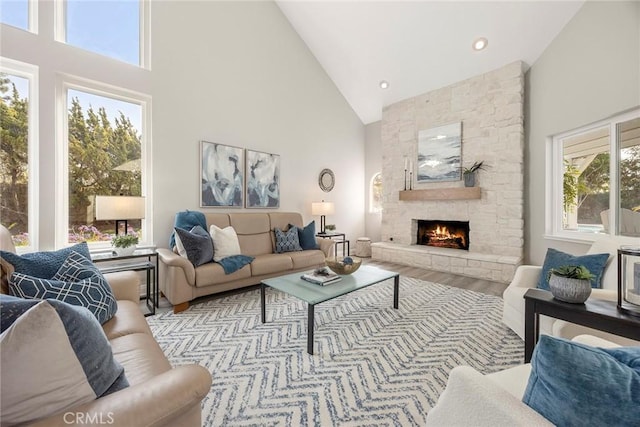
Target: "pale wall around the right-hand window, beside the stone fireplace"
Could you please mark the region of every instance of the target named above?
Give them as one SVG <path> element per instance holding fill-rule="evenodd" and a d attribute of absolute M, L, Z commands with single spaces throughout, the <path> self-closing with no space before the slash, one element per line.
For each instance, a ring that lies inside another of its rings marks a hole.
<path fill-rule="evenodd" d="M 588 244 L 545 239 L 545 140 L 640 105 L 640 3 L 586 2 L 527 73 L 525 259 L 548 247 Z"/>

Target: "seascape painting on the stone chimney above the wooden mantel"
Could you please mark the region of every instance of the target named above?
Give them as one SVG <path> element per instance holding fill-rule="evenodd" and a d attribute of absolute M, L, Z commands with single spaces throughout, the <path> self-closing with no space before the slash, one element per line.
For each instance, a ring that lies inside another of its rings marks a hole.
<path fill-rule="evenodd" d="M 461 179 L 462 122 L 418 132 L 418 182 Z"/>

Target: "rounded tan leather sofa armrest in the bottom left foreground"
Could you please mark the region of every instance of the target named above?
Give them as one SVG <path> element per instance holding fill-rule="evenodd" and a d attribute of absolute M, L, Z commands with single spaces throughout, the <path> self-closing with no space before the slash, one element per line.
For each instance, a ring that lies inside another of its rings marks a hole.
<path fill-rule="evenodd" d="M 179 366 L 140 384 L 73 407 L 32 424 L 69 426 L 79 414 L 85 420 L 119 426 L 174 425 L 206 396 L 211 374 L 200 365 Z"/>

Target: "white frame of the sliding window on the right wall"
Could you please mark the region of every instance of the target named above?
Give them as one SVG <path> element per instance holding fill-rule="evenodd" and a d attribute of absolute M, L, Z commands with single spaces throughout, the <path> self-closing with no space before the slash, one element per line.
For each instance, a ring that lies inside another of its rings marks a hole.
<path fill-rule="evenodd" d="M 621 241 L 637 238 L 618 234 L 620 221 L 620 143 L 617 138 L 617 125 L 640 117 L 640 108 L 636 107 L 606 119 L 579 128 L 550 136 L 546 141 L 545 172 L 549 177 L 545 185 L 545 238 L 569 242 L 593 242 L 599 235 L 606 234 Z M 562 228 L 563 214 L 563 147 L 562 140 L 571 138 L 598 128 L 609 128 L 609 230 L 606 233 L 589 233 Z"/>

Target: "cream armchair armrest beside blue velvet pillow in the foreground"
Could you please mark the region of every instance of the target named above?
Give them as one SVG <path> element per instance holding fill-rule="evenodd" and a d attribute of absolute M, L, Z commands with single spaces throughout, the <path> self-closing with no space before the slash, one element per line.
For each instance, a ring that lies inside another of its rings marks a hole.
<path fill-rule="evenodd" d="M 470 366 L 449 374 L 427 414 L 429 426 L 552 426 L 546 418 Z"/>

